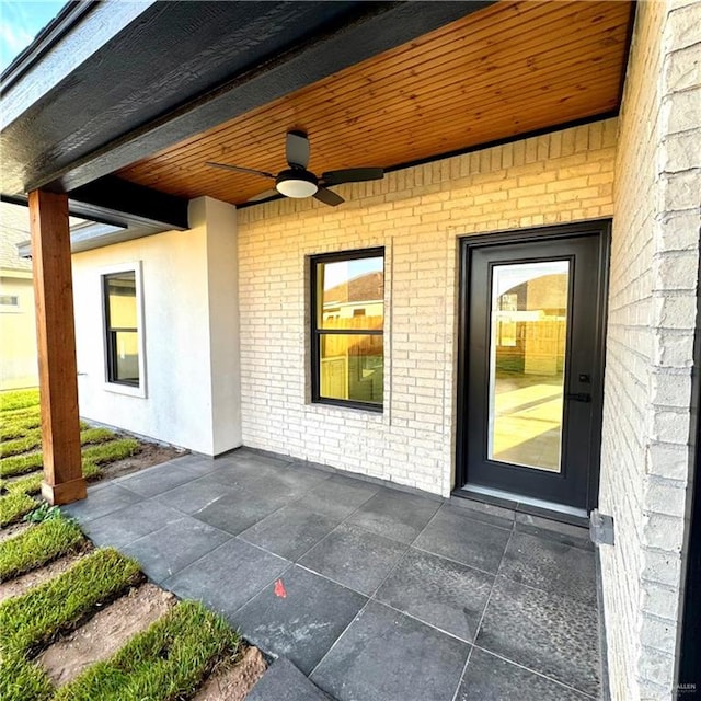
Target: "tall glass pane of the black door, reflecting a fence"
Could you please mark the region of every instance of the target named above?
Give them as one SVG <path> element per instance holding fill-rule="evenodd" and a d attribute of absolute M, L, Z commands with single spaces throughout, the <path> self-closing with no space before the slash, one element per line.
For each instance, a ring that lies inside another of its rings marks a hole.
<path fill-rule="evenodd" d="M 495 265 L 490 460 L 560 472 L 570 261 Z"/>

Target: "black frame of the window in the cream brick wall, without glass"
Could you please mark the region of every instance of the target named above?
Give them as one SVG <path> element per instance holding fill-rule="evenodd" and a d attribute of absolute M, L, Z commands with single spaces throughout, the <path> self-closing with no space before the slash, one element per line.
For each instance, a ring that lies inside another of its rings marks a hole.
<path fill-rule="evenodd" d="M 375 246 L 371 249 L 354 249 L 352 251 L 338 251 L 334 253 L 322 253 L 319 255 L 312 255 L 309 258 L 310 266 L 310 340 L 311 340 L 311 401 L 314 404 L 331 404 L 334 406 L 345 406 L 348 409 L 361 409 L 368 412 L 375 412 L 381 414 L 384 411 L 384 398 L 380 404 L 361 402 L 350 399 L 335 399 L 331 397 L 321 395 L 321 336 L 322 335 L 372 335 L 382 336 L 384 338 L 384 299 L 382 299 L 382 329 L 320 329 L 319 327 L 319 310 L 318 310 L 318 279 L 317 279 L 317 266 L 319 263 L 341 263 L 343 261 L 358 261 L 361 258 L 382 258 L 382 274 L 384 275 L 384 246 Z M 384 286 L 383 286 L 384 289 Z M 384 367 L 387 353 L 384 352 L 384 343 L 382 343 L 382 377 L 384 378 Z"/>

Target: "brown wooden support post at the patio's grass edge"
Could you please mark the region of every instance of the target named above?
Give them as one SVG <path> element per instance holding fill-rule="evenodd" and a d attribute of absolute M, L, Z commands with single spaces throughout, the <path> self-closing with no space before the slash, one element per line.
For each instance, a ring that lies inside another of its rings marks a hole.
<path fill-rule="evenodd" d="M 42 495 L 69 504 L 87 495 L 80 455 L 78 372 L 68 196 L 30 193 L 32 267 L 42 398 Z"/>

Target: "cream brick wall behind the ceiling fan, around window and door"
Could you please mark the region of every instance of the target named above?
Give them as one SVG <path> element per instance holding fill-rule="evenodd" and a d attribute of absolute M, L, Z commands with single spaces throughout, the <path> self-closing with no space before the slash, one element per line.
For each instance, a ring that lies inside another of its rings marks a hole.
<path fill-rule="evenodd" d="M 447 495 L 452 486 L 457 238 L 610 217 L 609 119 L 346 185 L 346 204 L 239 212 L 244 445 Z M 386 248 L 382 414 L 309 401 L 308 256 Z"/>

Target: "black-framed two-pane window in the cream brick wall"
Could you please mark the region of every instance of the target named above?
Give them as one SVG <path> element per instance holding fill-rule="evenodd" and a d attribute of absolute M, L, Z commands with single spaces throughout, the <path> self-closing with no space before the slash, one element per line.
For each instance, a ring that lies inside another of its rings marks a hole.
<path fill-rule="evenodd" d="M 379 411 L 384 379 L 384 250 L 311 258 L 312 400 Z"/>

